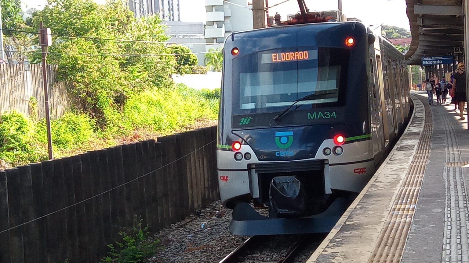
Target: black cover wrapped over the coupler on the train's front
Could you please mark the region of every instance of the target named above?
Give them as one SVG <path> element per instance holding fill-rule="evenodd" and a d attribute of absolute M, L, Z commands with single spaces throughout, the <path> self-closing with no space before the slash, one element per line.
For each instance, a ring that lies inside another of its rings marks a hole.
<path fill-rule="evenodd" d="M 304 212 L 305 199 L 301 181 L 296 176 L 277 176 L 270 182 L 270 216 L 300 215 Z"/>

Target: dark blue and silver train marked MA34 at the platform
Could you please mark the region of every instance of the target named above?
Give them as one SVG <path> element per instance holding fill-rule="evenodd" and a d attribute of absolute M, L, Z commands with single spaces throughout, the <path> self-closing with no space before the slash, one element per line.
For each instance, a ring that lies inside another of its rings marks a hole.
<path fill-rule="evenodd" d="M 360 22 L 238 32 L 223 52 L 217 166 L 230 231 L 328 232 L 405 128 L 403 55 Z"/>

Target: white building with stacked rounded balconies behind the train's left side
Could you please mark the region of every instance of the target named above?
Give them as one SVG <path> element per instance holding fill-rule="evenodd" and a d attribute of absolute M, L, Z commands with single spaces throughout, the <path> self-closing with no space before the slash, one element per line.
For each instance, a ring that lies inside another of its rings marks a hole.
<path fill-rule="evenodd" d="M 225 37 L 232 32 L 251 30 L 252 5 L 247 0 L 205 0 L 207 23 L 205 25 L 205 51 L 222 47 Z"/>

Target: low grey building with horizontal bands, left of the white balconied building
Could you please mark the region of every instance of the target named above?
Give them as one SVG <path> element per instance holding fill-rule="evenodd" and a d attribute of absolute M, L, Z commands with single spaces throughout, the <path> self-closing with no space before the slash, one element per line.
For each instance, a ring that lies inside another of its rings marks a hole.
<path fill-rule="evenodd" d="M 203 22 L 182 22 L 165 21 L 167 34 L 171 37 L 168 42 L 184 43 L 192 52 L 205 51 L 204 23 Z M 198 65 L 203 66 L 204 54 L 196 54 Z"/>

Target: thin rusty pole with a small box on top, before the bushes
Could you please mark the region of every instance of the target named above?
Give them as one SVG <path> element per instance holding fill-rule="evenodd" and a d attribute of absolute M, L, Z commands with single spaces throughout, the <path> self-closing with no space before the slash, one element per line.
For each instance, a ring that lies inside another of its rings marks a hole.
<path fill-rule="evenodd" d="M 44 80 L 44 104 L 45 104 L 45 124 L 47 126 L 47 152 L 49 160 L 52 155 L 52 133 L 51 133 L 51 117 L 49 113 L 49 84 L 47 83 L 47 69 L 45 59 L 47 58 L 47 47 L 52 45 L 52 35 L 50 28 L 44 28 L 42 21 L 39 23 L 39 45 L 42 51 L 42 79 Z"/>

